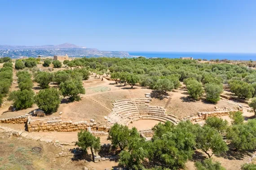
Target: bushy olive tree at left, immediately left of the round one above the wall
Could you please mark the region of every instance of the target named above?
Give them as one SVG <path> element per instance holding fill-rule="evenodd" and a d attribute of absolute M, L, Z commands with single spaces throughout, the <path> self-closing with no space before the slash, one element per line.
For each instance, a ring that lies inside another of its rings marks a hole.
<path fill-rule="evenodd" d="M 32 90 L 18 90 L 10 93 L 8 100 L 13 100 L 13 106 L 17 110 L 27 109 L 33 106 L 34 92 Z"/>

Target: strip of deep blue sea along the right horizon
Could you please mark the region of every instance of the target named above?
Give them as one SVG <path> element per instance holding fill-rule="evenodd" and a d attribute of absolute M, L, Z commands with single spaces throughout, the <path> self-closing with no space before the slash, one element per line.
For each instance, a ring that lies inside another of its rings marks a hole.
<path fill-rule="evenodd" d="M 146 58 L 180 58 L 193 57 L 194 59 L 219 59 L 219 60 L 253 60 L 256 61 L 256 53 L 217 53 L 217 52 L 128 52 L 131 56 Z"/>

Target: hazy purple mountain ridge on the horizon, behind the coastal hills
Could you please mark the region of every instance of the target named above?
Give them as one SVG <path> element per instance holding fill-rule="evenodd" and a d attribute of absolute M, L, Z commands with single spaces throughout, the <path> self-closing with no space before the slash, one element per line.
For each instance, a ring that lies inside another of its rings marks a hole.
<path fill-rule="evenodd" d="M 8 49 L 54 49 L 54 48 L 86 48 L 75 44 L 64 43 L 59 45 L 40 45 L 40 46 L 24 46 L 24 45 L 0 45 L 0 50 Z"/>

